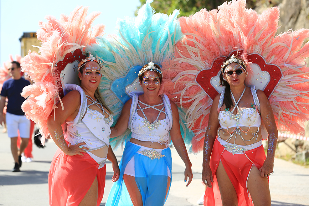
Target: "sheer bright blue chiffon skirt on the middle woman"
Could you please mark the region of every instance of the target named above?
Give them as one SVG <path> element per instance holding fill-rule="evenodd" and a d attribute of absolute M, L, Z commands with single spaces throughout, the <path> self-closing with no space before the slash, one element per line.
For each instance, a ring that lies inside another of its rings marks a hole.
<path fill-rule="evenodd" d="M 172 171 L 171 149 L 168 147 L 162 150 L 162 155 L 165 155 L 165 157 L 151 160 L 149 157 L 136 153 L 139 148 L 139 146 L 131 142 L 126 143 L 119 164 L 120 177 L 117 182 L 113 183 L 106 206 L 133 206 L 126 184 L 123 181 L 126 165 L 133 156 L 135 160 L 135 181 L 142 195 L 143 205 L 163 206 L 168 196 L 168 193 L 166 195 L 167 171 L 168 169 Z M 170 185 L 168 187 L 170 188 Z"/>

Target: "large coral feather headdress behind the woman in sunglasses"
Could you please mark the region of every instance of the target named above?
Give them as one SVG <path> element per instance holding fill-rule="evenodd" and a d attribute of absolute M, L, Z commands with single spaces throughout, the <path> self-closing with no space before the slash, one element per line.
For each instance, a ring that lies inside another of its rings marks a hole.
<path fill-rule="evenodd" d="M 309 114 L 308 29 L 275 36 L 279 8 L 261 14 L 245 8 L 245 0 L 233 0 L 218 10 L 202 9 L 179 18 L 185 37 L 176 45 L 175 58 L 165 62 L 163 75 L 173 79 L 165 88 L 186 113 L 195 136 L 193 152 L 203 148 L 210 107 L 221 93 L 221 65 L 230 54 L 239 53 L 247 64 L 246 84 L 256 85 L 269 98 L 279 130 L 304 133 Z"/>

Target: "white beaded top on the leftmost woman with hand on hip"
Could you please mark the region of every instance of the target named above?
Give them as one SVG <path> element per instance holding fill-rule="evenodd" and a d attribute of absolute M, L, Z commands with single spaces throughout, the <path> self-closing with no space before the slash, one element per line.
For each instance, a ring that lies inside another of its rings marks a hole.
<path fill-rule="evenodd" d="M 78 115 L 74 121 L 66 121 L 67 123 L 67 137 L 66 140 L 71 145 L 76 145 L 80 142 L 85 142 L 83 145 L 89 147 L 88 151 L 97 150 L 105 146 L 109 146 L 109 138 L 111 134 L 111 125 L 114 122 L 113 116 L 108 114 L 101 104 L 93 100 L 91 97 L 85 95 L 85 92 L 78 85 L 65 85 L 68 90 L 78 90 L 81 96 L 81 104 Z M 91 104 L 87 105 L 87 99 Z M 103 114 L 99 111 L 89 108 L 91 105 L 97 105 Z M 105 117 L 105 113 L 108 117 Z"/>

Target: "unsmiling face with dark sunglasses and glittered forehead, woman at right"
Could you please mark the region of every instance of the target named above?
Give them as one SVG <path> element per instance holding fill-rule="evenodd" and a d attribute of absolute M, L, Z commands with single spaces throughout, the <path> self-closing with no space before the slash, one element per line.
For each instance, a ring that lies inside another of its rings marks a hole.
<path fill-rule="evenodd" d="M 246 77 L 246 70 L 238 63 L 231 63 L 226 66 L 223 74 L 223 78 L 229 83 L 229 85 L 244 84 Z"/>

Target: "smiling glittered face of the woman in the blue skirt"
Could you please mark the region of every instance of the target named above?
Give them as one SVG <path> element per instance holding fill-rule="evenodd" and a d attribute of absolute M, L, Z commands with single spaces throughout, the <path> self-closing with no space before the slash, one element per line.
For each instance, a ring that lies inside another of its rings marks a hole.
<path fill-rule="evenodd" d="M 145 92 L 158 92 L 160 89 L 160 78 L 155 71 L 146 71 L 140 84 Z"/>

